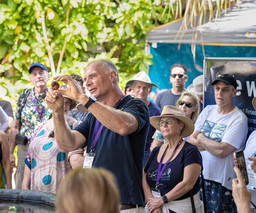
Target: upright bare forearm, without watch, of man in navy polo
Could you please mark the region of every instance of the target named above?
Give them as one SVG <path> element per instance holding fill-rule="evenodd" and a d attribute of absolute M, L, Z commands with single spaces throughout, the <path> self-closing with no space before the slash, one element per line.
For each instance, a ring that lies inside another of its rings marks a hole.
<path fill-rule="evenodd" d="M 53 112 L 54 137 L 62 152 L 73 151 L 74 138 L 64 117 L 64 110 L 58 113 Z"/>

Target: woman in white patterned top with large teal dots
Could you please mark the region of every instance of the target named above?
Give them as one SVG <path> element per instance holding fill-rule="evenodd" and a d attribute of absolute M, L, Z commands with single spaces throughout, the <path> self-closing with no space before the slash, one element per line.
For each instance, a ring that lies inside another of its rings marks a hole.
<path fill-rule="evenodd" d="M 60 85 L 60 89 L 66 89 Z M 64 96 L 64 117 L 70 129 L 75 128 L 80 121 L 68 116 L 68 111 L 76 106 L 74 100 Z M 47 106 L 45 101 L 43 106 Z M 61 152 L 54 138 L 53 119 L 40 124 L 29 144 L 25 157 L 25 170 L 22 189 L 56 193 L 56 190 L 64 176 L 72 170 L 67 161 L 68 153 Z"/>

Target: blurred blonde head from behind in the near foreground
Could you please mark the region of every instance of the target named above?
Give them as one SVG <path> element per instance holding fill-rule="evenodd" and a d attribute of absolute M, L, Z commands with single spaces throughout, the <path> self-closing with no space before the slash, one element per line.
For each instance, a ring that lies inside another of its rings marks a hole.
<path fill-rule="evenodd" d="M 111 172 L 77 168 L 58 188 L 56 212 L 118 212 L 119 202 L 116 178 Z"/>

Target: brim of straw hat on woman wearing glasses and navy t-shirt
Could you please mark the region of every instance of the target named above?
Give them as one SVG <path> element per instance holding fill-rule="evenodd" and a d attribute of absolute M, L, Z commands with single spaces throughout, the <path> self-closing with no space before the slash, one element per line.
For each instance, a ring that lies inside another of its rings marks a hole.
<path fill-rule="evenodd" d="M 174 117 L 174 118 L 177 118 L 178 120 L 180 120 L 184 123 L 184 131 L 182 132 L 182 138 L 185 138 L 185 137 L 191 135 L 195 130 L 194 122 L 190 118 L 185 117 L 185 116 L 181 116 L 181 115 L 159 115 L 159 116 L 150 117 L 150 124 L 159 131 L 161 131 L 161 130 L 160 130 L 160 126 L 158 125 L 158 121 L 162 117 Z"/>

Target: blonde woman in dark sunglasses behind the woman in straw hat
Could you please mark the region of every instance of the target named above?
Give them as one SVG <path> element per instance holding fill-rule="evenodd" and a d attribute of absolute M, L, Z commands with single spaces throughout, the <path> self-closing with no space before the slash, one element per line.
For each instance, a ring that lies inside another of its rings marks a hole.
<path fill-rule="evenodd" d="M 192 92 L 184 92 L 181 97 L 178 99 L 176 107 L 181 109 L 185 116 L 190 118 L 194 123 L 199 116 L 200 111 L 199 98 Z M 154 140 L 151 144 L 150 150 L 153 150 L 154 147 L 162 144 L 164 142 L 164 137 L 161 132 L 156 130 L 153 137 Z M 185 141 L 188 141 L 189 137 L 183 138 Z"/>

